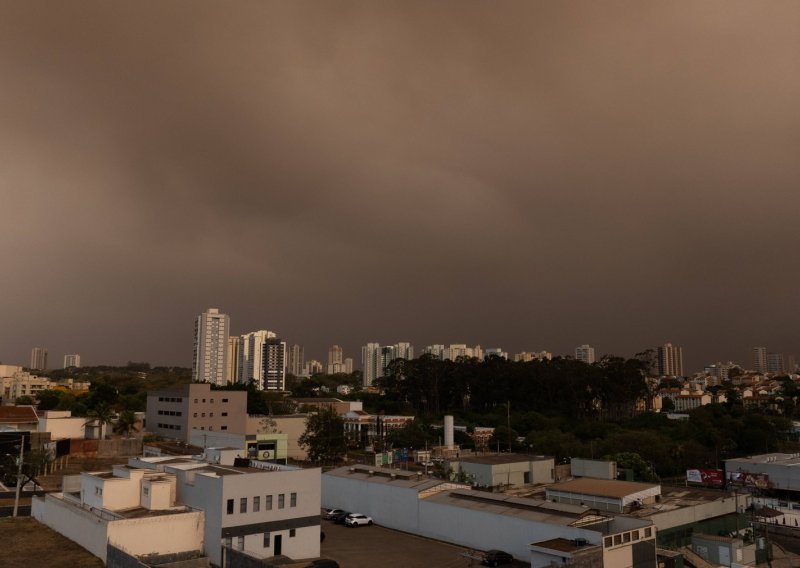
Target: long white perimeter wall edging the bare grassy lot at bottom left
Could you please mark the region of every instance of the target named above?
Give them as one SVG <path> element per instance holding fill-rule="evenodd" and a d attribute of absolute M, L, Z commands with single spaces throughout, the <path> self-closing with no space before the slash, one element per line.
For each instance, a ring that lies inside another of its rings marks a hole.
<path fill-rule="evenodd" d="M 53 495 L 34 497 L 31 516 L 106 561 L 107 521 Z"/>

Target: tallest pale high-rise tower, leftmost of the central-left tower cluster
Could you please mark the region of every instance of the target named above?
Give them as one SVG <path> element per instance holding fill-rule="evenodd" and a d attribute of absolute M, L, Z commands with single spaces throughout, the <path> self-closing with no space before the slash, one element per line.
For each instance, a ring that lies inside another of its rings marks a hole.
<path fill-rule="evenodd" d="M 228 335 L 230 318 L 209 308 L 194 322 L 192 381 L 224 385 L 228 382 Z"/>

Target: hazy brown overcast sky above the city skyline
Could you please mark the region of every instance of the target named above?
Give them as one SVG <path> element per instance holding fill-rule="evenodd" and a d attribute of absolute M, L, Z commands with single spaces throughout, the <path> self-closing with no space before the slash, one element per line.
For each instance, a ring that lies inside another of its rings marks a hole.
<path fill-rule="evenodd" d="M 0 360 L 207 307 L 693 370 L 797 346 L 800 3 L 0 3 Z"/>

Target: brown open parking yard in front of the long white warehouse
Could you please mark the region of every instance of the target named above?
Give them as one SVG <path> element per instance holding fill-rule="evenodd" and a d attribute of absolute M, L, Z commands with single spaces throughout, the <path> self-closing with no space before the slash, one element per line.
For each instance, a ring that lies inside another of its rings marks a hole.
<path fill-rule="evenodd" d="M 379 526 L 348 528 L 322 521 L 325 540 L 322 556 L 333 558 L 342 568 L 409 568 L 436 566 L 469 568 L 480 566 L 478 560 L 465 557 L 469 549 L 420 538 Z M 480 552 L 472 552 L 480 555 Z M 515 562 L 512 566 L 530 566 Z"/>

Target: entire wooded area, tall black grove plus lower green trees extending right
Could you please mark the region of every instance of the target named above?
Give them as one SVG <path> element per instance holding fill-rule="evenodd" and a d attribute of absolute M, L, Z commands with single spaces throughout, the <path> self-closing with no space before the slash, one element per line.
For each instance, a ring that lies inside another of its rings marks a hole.
<path fill-rule="evenodd" d="M 561 358 L 519 363 L 423 356 L 394 361 L 388 375 L 376 381 L 383 394 L 357 398 L 373 412 L 417 416 L 413 426 L 392 433 L 395 447 L 436 443 L 441 432 L 430 425 L 453 414 L 468 430 L 494 427 L 491 449 L 510 446 L 559 461 L 610 457 L 638 479 L 719 467 L 741 455 L 797 451 L 789 419 L 747 409 L 740 398 L 700 407 L 688 420 L 650 411 L 649 367 L 646 356 L 607 357 L 592 365 Z M 473 445 L 467 436 L 459 438 Z"/>

